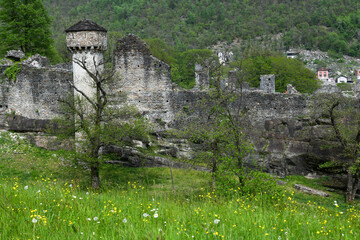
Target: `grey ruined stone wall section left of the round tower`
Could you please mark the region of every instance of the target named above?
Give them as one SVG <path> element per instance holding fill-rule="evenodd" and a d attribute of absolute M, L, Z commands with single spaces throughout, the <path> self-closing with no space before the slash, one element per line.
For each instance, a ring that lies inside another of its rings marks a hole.
<path fill-rule="evenodd" d="M 2 70 L 7 67 L 3 66 Z M 2 71 L 1 71 L 2 72 Z M 59 98 L 70 93 L 72 72 L 22 65 L 16 81 L 3 76 L 0 85 L 0 128 L 43 131 L 59 114 Z"/>

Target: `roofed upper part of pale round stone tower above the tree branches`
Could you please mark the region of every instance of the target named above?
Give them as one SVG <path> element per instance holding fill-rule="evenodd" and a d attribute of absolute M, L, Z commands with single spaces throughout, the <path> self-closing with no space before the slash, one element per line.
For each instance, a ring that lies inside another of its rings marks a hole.
<path fill-rule="evenodd" d="M 93 73 L 95 70 L 103 71 L 107 30 L 92 20 L 84 19 L 66 29 L 65 32 L 67 47 L 72 53 L 74 86 L 89 97 L 94 96 L 95 89 L 92 87 L 90 76 L 76 62 L 86 62 L 86 68 Z"/>

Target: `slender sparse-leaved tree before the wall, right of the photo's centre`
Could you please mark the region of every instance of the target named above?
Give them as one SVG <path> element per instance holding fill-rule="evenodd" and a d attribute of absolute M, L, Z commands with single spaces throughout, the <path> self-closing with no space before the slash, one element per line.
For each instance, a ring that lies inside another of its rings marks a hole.
<path fill-rule="evenodd" d="M 212 65 L 209 73 L 214 81 L 220 81 L 222 66 Z M 222 90 L 220 84 L 214 85 L 202 100 L 184 106 L 177 119 L 177 134 L 194 144 L 197 151 L 191 161 L 210 168 L 213 190 L 217 183 L 243 187 L 249 180 L 245 159 L 253 149 L 245 131 L 246 112 L 241 107 L 241 96 Z M 235 176 L 237 182 L 233 181 Z"/>

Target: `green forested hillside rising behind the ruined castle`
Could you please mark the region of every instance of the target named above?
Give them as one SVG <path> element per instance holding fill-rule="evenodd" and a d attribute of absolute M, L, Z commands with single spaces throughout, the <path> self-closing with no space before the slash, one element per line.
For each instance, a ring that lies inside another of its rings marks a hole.
<path fill-rule="evenodd" d="M 66 27 L 90 18 L 111 32 L 160 38 L 176 49 L 281 33 L 302 46 L 360 56 L 358 0 L 44 0 L 57 48 Z M 63 50 L 61 50 L 63 48 Z"/>

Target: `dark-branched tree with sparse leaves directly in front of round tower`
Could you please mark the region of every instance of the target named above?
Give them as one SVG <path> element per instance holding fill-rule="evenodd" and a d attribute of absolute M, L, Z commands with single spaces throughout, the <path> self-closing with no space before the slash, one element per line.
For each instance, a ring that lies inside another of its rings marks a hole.
<path fill-rule="evenodd" d="M 119 80 L 114 71 L 102 70 L 104 63 L 95 59 L 94 66 L 89 64 L 89 59 L 75 59 L 74 62 L 88 74 L 89 86 L 95 93 L 84 92 L 69 81 L 74 94 L 60 100 L 64 114 L 56 121 L 57 125 L 65 126 L 58 130 L 61 135 L 75 134 L 76 160 L 89 167 L 91 186 L 97 190 L 100 188 L 99 171 L 108 157 L 104 148 L 132 146 L 132 139 L 146 142 L 150 125 L 134 107 L 126 104 L 126 96 L 111 97 L 107 89 L 112 81 Z"/>

